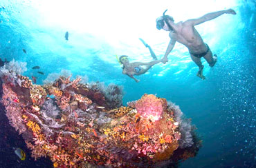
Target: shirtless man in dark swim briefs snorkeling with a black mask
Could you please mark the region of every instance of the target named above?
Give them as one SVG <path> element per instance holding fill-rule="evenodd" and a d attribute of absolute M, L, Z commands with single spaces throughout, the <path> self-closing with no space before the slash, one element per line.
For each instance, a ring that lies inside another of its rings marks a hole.
<path fill-rule="evenodd" d="M 165 10 L 165 12 L 166 11 L 167 10 Z M 198 19 L 189 19 L 188 21 L 179 23 L 174 23 L 174 19 L 169 15 L 165 15 L 165 12 L 163 12 L 162 17 L 158 17 L 156 19 L 156 28 L 158 30 L 163 29 L 165 31 L 170 31 L 169 36 L 171 40 L 165 55 L 163 56 L 163 63 L 168 61 L 167 56 L 174 48 L 176 41 L 178 41 L 188 48 L 192 61 L 194 61 L 197 66 L 199 66 L 199 72 L 197 73 L 197 76 L 199 76 L 199 78 L 205 79 L 205 76 L 203 76 L 203 65 L 201 63 L 201 57 L 203 57 L 208 62 L 210 67 L 213 67 L 217 62 L 217 55 L 214 54 L 214 56 L 212 56 L 212 52 L 209 46 L 203 42 L 203 39 L 201 38 L 199 32 L 196 31 L 194 26 L 199 25 L 205 21 L 215 19 L 221 16 L 221 14 L 236 14 L 235 10 L 229 9 L 212 12 L 205 14 L 203 17 L 199 17 Z"/>

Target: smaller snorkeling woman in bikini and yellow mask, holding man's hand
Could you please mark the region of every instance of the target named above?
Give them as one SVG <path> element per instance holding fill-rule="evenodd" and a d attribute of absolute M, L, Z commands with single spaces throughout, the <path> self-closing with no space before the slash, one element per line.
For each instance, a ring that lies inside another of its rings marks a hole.
<path fill-rule="evenodd" d="M 149 49 L 149 52 L 154 59 L 154 61 L 151 61 L 149 63 L 141 63 L 141 62 L 134 62 L 129 63 L 128 56 L 122 55 L 119 57 L 118 62 L 123 65 L 122 67 L 122 74 L 127 74 L 130 78 L 133 78 L 136 82 L 139 82 L 137 78 L 134 78 L 134 75 L 140 75 L 145 74 L 153 65 L 156 63 L 160 63 L 161 60 L 157 60 L 156 55 L 154 54 L 152 48 L 143 41 L 143 39 L 140 39 L 140 41 L 143 42 L 146 48 Z"/>

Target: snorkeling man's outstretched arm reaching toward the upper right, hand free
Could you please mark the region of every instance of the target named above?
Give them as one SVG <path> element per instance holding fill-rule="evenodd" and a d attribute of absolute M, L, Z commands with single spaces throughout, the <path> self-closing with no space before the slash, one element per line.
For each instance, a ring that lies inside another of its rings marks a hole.
<path fill-rule="evenodd" d="M 199 19 L 190 19 L 188 21 L 185 21 L 184 23 L 189 23 L 192 25 L 199 25 L 205 21 L 210 21 L 212 19 L 215 19 L 215 18 L 221 16 L 221 14 L 237 14 L 237 13 L 235 12 L 235 10 L 232 10 L 232 9 L 221 10 L 221 11 L 205 14 L 205 15 L 203 15 L 203 17 L 199 17 Z"/>

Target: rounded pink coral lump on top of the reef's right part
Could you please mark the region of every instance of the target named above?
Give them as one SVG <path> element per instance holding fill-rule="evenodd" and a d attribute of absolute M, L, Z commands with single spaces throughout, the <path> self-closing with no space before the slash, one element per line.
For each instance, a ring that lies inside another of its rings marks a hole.
<path fill-rule="evenodd" d="M 153 94 L 144 94 L 135 106 L 141 116 L 159 120 L 167 107 L 167 101 L 165 98 L 157 98 Z"/>

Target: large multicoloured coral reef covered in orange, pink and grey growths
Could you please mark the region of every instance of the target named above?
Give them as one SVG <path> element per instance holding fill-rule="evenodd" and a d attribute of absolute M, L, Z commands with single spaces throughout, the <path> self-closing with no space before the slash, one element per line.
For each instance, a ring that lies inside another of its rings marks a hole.
<path fill-rule="evenodd" d="M 125 107 L 122 87 L 71 76 L 33 85 L 6 67 L 0 69 L 6 116 L 32 156 L 48 156 L 53 167 L 164 167 L 200 148 L 190 120 L 165 98 L 145 94 Z"/>

